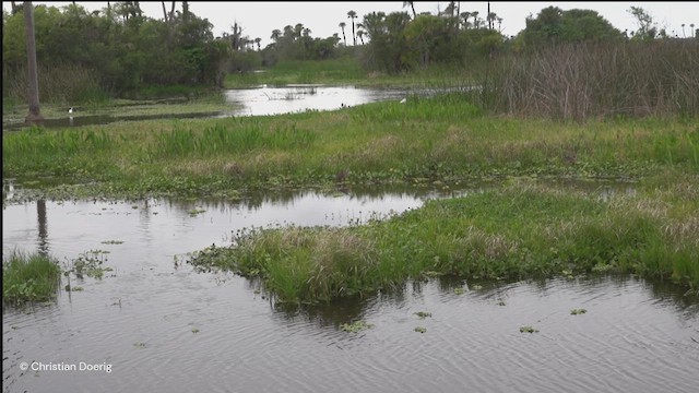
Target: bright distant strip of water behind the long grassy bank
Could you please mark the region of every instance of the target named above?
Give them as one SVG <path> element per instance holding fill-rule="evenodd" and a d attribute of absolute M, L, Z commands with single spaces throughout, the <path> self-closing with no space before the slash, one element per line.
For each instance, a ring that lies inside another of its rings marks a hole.
<path fill-rule="evenodd" d="M 254 88 L 236 88 L 223 92 L 228 109 L 209 112 L 187 112 L 158 115 L 128 115 L 129 107 L 123 106 L 123 116 L 90 115 L 78 111 L 66 114 L 62 118 L 46 119 L 46 128 L 81 127 L 107 124 L 118 121 L 142 121 L 153 119 L 189 119 L 189 118 L 226 118 L 239 116 L 270 116 L 294 114 L 306 110 L 334 110 L 368 103 L 395 99 L 400 100 L 411 94 L 428 95 L 435 92 L 428 90 L 406 88 L 368 88 L 355 86 L 323 86 L 313 84 L 287 85 L 273 87 L 261 85 Z M 140 104 L 142 105 L 142 104 Z M 187 103 L 174 105 L 187 106 Z M 2 129 L 19 130 L 26 127 L 23 122 L 2 121 Z"/>

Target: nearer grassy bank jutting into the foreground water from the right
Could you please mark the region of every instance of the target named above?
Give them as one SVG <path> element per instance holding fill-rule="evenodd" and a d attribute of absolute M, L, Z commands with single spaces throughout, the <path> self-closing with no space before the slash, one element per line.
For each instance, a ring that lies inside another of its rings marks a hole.
<path fill-rule="evenodd" d="M 522 279 L 633 273 L 699 289 L 697 177 L 602 198 L 533 182 L 430 201 L 347 228 L 241 233 L 190 263 L 262 279 L 282 302 L 317 302 L 455 275 Z"/>

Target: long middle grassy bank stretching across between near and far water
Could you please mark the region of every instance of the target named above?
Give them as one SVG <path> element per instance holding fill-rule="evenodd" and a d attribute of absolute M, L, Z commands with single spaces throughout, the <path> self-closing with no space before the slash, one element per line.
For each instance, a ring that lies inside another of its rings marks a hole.
<path fill-rule="evenodd" d="M 2 175 L 48 198 L 189 194 L 474 177 L 699 172 L 696 119 L 584 123 L 484 116 L 467 97 L 332 112 L 3 133 Z M 76 184 L 76 186 L 73 186 Z"/>

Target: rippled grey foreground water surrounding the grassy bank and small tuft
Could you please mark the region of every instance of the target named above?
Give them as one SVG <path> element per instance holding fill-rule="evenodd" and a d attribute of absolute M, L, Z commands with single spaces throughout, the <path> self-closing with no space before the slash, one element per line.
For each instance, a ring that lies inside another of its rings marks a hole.
<path fill-rule="evenodd" d="M 92 255 L 108 270 L 50 303 L 3 307 L 3 391 L 696 392 L 699 301 L 664 283 L 435 278 L 289 310 L 258 283 L 186 263 L 244 228 L 357 225 L 477 191 L 8 204 L 3 255 Z M 356 321 L 371 327 L 341 329 Z"/>

